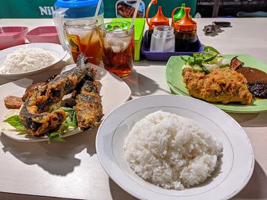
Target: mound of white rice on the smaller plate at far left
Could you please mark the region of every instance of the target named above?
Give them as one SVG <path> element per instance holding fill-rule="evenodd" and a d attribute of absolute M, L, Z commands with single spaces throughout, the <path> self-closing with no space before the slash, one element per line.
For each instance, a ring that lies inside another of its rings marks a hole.
<path fill-rule="evenodd" d="M 54 63 L 55 56 L 40 48 L 24 48 L 13 51 L 6 56 L 0 69 L 2 74 L 31 72 Z"/>

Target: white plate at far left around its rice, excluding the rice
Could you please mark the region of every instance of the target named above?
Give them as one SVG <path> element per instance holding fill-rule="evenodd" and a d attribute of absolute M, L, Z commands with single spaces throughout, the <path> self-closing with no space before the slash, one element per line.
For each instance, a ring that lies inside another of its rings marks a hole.
<path fill-rule="evenodd" d="M 10 47 L 8 49 L 3 49 L 0 51 L 0 68 L 3 66 L 3 61 L 6 60 L 6 56 L 8 53 L 12 53 L 13 51 L 16 51 L 18 49 L 24 49 L 24 48 L 40 48 L 44 49 L 46 51 L 49 51 L 54 54 L 56 57 L 56 60 L 54 61 L 53 64 L 49 66 L 42 66 L 40 69 L 33 70 L 31 72 L 22 72 L 22 73 L 15 73 L 15 74 L 1 74 L 0 76 L 5 76 L 5 77 L 24 77 L 24 76 L 29 76 L 32 74 L 38 74 L 39 72 L 43 72 L 44 70 L 48 69 L 49 67 L 52 67 L 56 65 L 56 63 L 59 63 L 65 56 L 67 55 L 67 51 L 65 51 L 61 45 L 59 44 L 54 44 L 54 43 L 45 43 L 45 42 L 40 42 L 40 43 L 31 43 L 31 44 L 22 44 L 18 45 L 15 47 Z"/>

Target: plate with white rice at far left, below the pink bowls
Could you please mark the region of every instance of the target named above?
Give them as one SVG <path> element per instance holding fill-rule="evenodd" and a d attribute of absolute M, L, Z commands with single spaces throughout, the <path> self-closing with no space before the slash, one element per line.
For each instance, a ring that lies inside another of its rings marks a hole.
<path fill-rule="evenodd" d="M 67 55 L 61 45 L 31 43 L 0 51 L 0 76 L 22 77 L 38 74 L 63 60 Z"/>

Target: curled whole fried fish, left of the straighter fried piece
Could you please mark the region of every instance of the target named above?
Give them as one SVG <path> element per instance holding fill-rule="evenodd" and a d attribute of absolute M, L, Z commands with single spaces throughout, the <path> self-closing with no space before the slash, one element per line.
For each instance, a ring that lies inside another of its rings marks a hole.
<path fill-rule="evenodd" d="M 58 103 L 65 94 L 72 92 L 83 80 L 88 72 L 86 63 L 86 57 L 80 54 L 76 67 L 59 74 L 43 85 L 40 90 L 35 90 L 25 100 L 19 113 L 19 119 L 27 133 L 38 136 L 57 131 L 60 128 L 66 119 L 66 114 L 60 109 L 49 112 L 51 111 L 50 107 L 54 103 Z"/>

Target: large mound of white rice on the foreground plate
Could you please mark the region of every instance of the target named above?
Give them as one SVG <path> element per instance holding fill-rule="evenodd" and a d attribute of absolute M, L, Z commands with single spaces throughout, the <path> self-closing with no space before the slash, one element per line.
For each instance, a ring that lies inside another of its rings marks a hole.
<path fill-rule="evenodd" d="M 166 189 L 203 183 L 218 166 L 222 151 L 221 142 L 200 124 L 161 110 L 137 122 L 124 140 L 131 169 Z"/>

